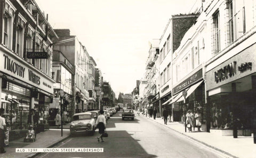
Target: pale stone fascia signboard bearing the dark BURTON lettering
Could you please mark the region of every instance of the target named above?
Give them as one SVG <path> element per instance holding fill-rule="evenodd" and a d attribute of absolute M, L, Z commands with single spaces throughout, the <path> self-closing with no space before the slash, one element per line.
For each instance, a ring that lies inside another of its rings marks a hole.
<path fill-rule="evenodd" d="M 230 56 L 230 58 L 227 58 L 225 61 L 218 59 L 216 62 L 207 65 L 205 70 L 207 81 L 205 89 L 212 90 L 254 74 L 256 72 L 256 66 L 254 66 L 256 63 L 255 48 L 256 45 L 254 44 L 239 53 L 234 49 L 234 52 L 237 52 L 236 55 Z M 231 52 L 233 52 L 233 49 Z M 245 87 L 244 85 L 247 85 L 248 83 L 246 82 L 248 81 L 242 79 L 239 82 L 241 83 L 239 87 L 247 88 L 247 86 Z"/>

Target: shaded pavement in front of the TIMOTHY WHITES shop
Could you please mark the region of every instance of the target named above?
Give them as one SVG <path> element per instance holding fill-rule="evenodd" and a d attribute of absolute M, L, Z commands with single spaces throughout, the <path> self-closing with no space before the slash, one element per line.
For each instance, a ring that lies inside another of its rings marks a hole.
<path fill-rule="evenodd" d="M 23 138 L 16 139 L 9 142 L 9 146 L 5 147 L 6 153 L 1 154 L 0 157 L 35 157 L 38 153 L 16 153 L 16 148 L 50 148 L 69 137 L 69 124 L 63 125 L 63 132 L 61 136 L 61 129 L 57 127 L 50 127 L 49 130 L 39 132 L 36 135 L 35 142 L 23 142 Z"/>

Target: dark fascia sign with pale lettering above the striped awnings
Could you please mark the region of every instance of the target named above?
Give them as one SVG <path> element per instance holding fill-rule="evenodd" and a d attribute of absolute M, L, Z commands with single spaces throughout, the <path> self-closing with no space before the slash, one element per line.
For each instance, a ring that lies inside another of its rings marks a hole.
<path fill-rule="evenodd" d="M 181 82 L 181 84 L 174 87 L 172 89 L 173 94 L 176 94 L 181 90 L 186 89 L 187 87 L 189 87 L 190 85 L 193 85 L 195 82 L 201 80 L 202 78 L 203 78 L 203 69 L 200 69 L 199 71 L 191 75 L 189 78 L 187 78 L 185 81 Z"/>

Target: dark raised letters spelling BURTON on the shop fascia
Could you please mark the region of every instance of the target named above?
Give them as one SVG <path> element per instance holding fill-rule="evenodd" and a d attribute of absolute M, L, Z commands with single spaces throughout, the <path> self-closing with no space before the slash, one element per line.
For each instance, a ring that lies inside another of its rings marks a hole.
<path fill-rule="evenodd" d="M 226 80 L 228 77 L 233 77 L 236 74 L 236 61 L 230 63 L 218 71 L 214 72 L 215 82 L 221 82 Z"/>

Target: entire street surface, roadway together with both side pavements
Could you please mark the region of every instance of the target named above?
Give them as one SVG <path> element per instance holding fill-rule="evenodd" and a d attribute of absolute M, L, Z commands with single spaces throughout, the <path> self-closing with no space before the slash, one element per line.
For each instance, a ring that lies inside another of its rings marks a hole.
<path fill-rule="evenodd" d="M 185 132 L 183 124 L 167 122 L 162 118 L 138 116 L 122 120 L 121 112 L 107 121 L 109 137 L 98 143 L 95 134 L 69 136 L 69 124 L 60 129 L 51 127 L 40 132 L 36 142 L 23 142 L 23 138 L 9 142 L 6 153 L 0 157 L 245 157 L 256 155 L 253 137 L 219 136 L 209 132 Z M 59 153 L 18 153 L 15 149 L 47 148 Z M 74 152 L 75 149 L 77 152 Z M 85 149 L 103 149 L 103 152 L 85 152 Z M 68 150 L 67 150 L 68 149 Z M 71 151 L 72 150 L 72 151 Z M 82 151 L 82 152 L 81 152 Z"/>

